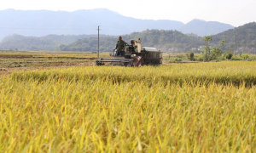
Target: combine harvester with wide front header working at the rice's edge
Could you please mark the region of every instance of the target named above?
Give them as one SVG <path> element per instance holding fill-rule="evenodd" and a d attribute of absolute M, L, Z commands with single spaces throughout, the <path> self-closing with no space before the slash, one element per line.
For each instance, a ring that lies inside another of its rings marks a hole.
<path fill-rule="evenodd" d="M 161 65 L 162 53 L 156 48 L 142 47 L 142 40 L 131 40 L 131 45 L 126 43 L 125 56 L 117 56 L 117 50 L 110 54 L 110 59 L 97 59 L 96 65 L 110 65 L 119 66 L 141 66 L 141 65 Z"/>

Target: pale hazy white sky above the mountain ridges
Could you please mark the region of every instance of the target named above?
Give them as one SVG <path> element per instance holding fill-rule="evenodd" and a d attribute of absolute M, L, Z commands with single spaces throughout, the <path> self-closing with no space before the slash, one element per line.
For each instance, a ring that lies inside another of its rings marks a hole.
<path fill-rule="evenodd" d="M 108 8 L 119 14 L 148 20 L 193 19 L 242 26 L 256 21 L 256 0 L 0 0 L 0 9 L 65 10 Z"/>

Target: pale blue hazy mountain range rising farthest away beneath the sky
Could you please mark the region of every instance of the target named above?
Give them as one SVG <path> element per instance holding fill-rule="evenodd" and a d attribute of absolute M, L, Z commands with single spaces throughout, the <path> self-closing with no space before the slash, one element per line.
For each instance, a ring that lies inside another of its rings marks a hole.
<path fill-rule="evenodd" d="M 0 20 L 0 40 L 12 34 L 33 37 L 97 34 L 97 26 L 101 26 L 101 34 L 115 36 L 158 29 L 194 33 L 203 37 L 234 28 L 228 24 L 204 20 L 192 20 L 188 24 L 176 20 L 140 20 L 106 8 L 73 12 L 6 9 L 0 10 Z"/>

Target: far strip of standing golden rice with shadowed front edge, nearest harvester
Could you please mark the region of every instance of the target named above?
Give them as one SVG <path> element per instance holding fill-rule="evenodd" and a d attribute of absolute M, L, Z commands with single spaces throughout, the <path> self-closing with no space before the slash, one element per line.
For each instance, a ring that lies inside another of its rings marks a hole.
<path fill-rule="evenodd" d="M 199 63 L 166 66 L 113 67 L 93 66 L 49 71 L 20 71 L 12 74 L 14 80 L 47 80 L 83 81 L 102 79 L 111 82 L 134 82 L 139 80 L 149 86 L 153 83 L 189 82 L 204 84 L 215 82 L 247 87 L 256 85 L 255 62 L 222 62 Z"/>

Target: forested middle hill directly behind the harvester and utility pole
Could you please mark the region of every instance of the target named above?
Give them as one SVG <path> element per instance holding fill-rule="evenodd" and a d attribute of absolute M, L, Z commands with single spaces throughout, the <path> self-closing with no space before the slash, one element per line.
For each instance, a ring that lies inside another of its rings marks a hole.
<path fill-rule="evenodd" d="M 122 36 L 123 40 L 130 43 L 132 39 L 142 38 L 142 44 L 145 47 L 158 48 L 180 48 L 180 51 L 185 52 L 189 48 L 196 48 L 203 45 L 201 37 L 190 37 L 184 35 L 180 31 L 159 31 L 148 30 L 143 32 L 132 32 L 130 35 Z M 117 37 L 102 37 L 100 40 L 100 50 L 103 52 L 111 51 L 118 41 Z M 77 51 L 91 51 L 97 49 L 97 38 L 84 38 L 72 44 L 60 46 L 62 51 L 77 50 Z"/>

